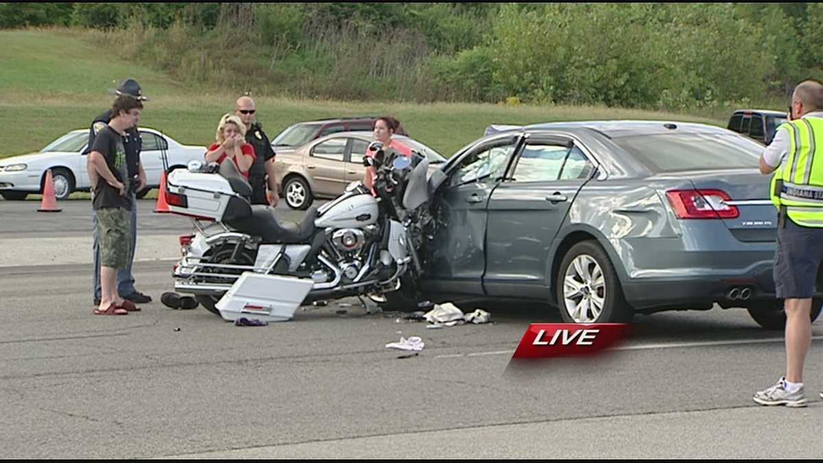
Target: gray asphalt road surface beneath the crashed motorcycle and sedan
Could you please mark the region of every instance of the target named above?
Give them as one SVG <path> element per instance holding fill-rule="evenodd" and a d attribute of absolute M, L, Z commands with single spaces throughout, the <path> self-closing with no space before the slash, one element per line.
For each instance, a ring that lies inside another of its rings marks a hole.
<path fill-rule="evenodd" d="M 9 225 L 28 223 L 9 203 L 4 254 L 40 239 Z M 29 230 L 81 236 L 89 220 L 67 212 Z M 159 225 L 158 239 L 187 222 Z M 135 276 L 156 302 L 93 316 L 91 265 L 23 255 L 0 268 L 0 456 L 789 458 L 823 448 L 821 321 L 810 406 L 765 408 L 751 394 L 783 371 L 782 333 L 740 309 L 639 316 L 602 358 L 513 364 L 528 324 L 556 313 L 485 306 L 493 324 L 427 330 L 347 299 L 241 328 L 162 306 L 169 262 L 139 262 Z M 384 348 L 410 335 L 425 341 L 418 356 Z"/>

